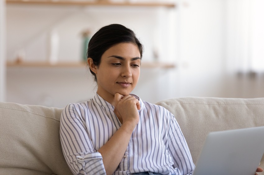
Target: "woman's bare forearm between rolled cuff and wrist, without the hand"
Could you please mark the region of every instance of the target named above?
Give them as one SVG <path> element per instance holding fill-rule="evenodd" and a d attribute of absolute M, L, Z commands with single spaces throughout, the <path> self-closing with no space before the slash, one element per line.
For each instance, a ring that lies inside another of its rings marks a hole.
<path fill-rule="evenodd" d="M 134 128 L 135 125 L 131 122 L 123 123 L 107 143 L 98 150 L 102 155 L 107 175 L 113 174 L 120 164 Z"/>

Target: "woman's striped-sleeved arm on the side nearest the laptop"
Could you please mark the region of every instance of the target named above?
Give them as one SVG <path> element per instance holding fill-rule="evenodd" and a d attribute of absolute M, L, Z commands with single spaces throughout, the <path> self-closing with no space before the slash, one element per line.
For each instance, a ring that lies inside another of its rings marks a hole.
<path fill-rule="evenodd" d="M 171 115 L 168 147 L 169 152 L 174 160 L 173 167 L 180 170 L 181 174 L 191 175 L 193 174 L 195 165 L 193 163 L 189 147 L 186 140 L 180 130 L 180 126 L 177 123 L 175 117 Z"/>

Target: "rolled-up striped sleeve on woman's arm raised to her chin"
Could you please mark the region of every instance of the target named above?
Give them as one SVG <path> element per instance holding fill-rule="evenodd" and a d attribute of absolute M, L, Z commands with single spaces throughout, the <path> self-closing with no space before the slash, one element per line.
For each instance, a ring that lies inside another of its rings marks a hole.
<path fill-rule="evenodd" d="M 60 139 L 65 160 L 74 174 L 106 174 L 102 155 L 94 149 L 80 111 L 80 106 L 70 104 L 61 113 Z"/>

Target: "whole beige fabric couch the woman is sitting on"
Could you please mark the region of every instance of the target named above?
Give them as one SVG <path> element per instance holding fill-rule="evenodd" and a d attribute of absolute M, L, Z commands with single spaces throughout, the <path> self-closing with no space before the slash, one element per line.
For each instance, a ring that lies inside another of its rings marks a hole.
<path fill-rule="evenodd" d="M 264 126 L 264 98 L 189 97 L 157 104 L 175 115 L 194 162 L 208 132 Z M 60 146 L 61 110 L 0 102 L 1 175 L 71 174 Z"/>

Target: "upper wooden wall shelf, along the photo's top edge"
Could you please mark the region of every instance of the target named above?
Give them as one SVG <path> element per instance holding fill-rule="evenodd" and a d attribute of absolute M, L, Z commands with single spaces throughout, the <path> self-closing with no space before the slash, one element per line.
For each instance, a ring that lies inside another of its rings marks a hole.
<path fill-rule="evenodd" d="M 175 7 L 171 2 L 111 2 L 111 0 L 75 1 L 75 0 L 6 0 L 7 4 L 32 5 L 80 5 L 80 6 L 145 6 L 145 7 Z"/>

